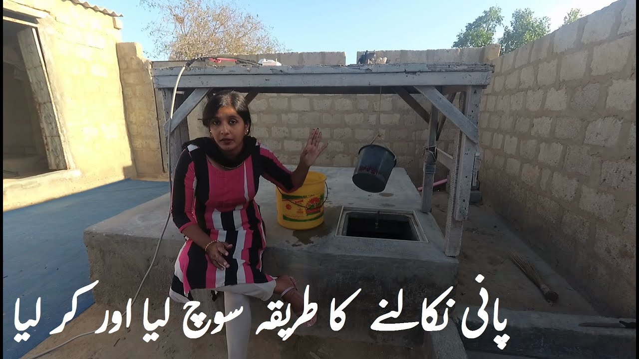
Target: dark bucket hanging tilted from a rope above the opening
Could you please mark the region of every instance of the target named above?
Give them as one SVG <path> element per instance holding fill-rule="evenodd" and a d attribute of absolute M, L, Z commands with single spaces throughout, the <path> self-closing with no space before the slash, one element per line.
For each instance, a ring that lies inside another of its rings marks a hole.
<path fill-rule="evenodd" d="M 395 154 L 383 146 L 368 144 L 360 148 L 358 155 L 353 183 L 366 192 L 383 191 L 389 181 L 390 172 L 397 165 Z"/>

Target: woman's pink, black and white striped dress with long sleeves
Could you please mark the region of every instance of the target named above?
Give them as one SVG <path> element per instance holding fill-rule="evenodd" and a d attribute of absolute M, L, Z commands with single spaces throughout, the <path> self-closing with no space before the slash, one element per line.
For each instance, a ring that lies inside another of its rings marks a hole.
<path fill-rule="evenodd" d="M 254 201 L 259 177 L 291 192 L 289 171 L 259 142 L 237 168 L 223 171 L 194 144 L 181 153 L 171 194 L 171 214 L 180 232 L 199 225 L 211 240 L 231 243 L 224 259 L 230 267 L 217 269 L 194 241 L 185 236 L 175 263 L 169 296 L 177 302 L 193 300 L 192 289 L 216 289 L 233 284 L 266 283 L 273 277 L 262 270 L 266 230 Z"/>

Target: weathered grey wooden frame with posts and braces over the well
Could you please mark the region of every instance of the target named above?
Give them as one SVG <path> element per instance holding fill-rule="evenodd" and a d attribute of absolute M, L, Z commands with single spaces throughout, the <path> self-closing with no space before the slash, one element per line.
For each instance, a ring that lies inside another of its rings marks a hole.
<path fill-rule="evenodd" d="M 429 123 L 429 136 L 424 146 L 422 212 L 431 211 L 435 160 L 450 169 L 444 252 L 455 257 L 461 249 L 475 155 L 479 153 L 479 103 L 482 89 L 490 84 L 493 71 L 493 65 L 484 63 L 221 67 L 197 64 L 187 68 L 151 68 L 151 76 L 157 93 L 158 116 L 164 114 L 164 129 L 169 133 L 172 167 L 180 156 L 181 143 L 188 140 L 184 120 L 209 91 L 235 89 L 246 93 L 249 102 L 258 93 L 399 95 Z M 183 91 L 185 97 L 183 102 L 175 104 L 173 114 L 169 114 L 178 76 L 177 89 Z M 445 96 L 456 93 L 463 94 L 461 111 L 451 103 L 452 97 Z M 431 112 L 415 100 L 415 94 L 426 97 L 432 104 Z M 451 154 L 436 148 L 444 119 L 457 126 L 455 151 Z"/>

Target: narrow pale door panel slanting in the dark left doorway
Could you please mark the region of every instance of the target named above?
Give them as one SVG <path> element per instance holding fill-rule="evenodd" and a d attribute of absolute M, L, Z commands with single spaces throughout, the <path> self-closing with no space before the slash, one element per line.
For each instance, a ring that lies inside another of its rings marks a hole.
<path fill-rule="evenodd" d="M 29 77 L 33 100 L 40 118 L 40 128 L 45 143 L 47 162 L 50 169 L 68 169 L 63 138 L 60 134 L 58 110 L 54 105 L 54 94 L 50 88 L 45 59 L 40 48 L 38 33 L 29 27 L 17 34 L 24 67 Z"/>

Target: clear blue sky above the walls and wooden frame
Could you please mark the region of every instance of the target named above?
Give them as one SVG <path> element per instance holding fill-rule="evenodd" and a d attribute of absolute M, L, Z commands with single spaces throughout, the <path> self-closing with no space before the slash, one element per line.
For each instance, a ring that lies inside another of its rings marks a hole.
<path fill-rule="evenodd" d="M 178 0 L 179 1 L 179 0 Z M 584 15 L 597 11 L 612 0 L 403 0 L 403 1 L 247 1 L 238 6 L 265 22 L 273 35 L 293 52 L 344 51 L 346 63 L 355 63 L 362 50 L 450 49 L 456 36 L 490 6 L 502 8 L 510 22 L 516 8 L 531 8 L 536 16 L 551 19 L 551 31 L 557 29 L 571 8 Z M 150 56 L 153 40 L 144 27 L 157 20 L 139 0 L 92 0 L 124 15 L 122 40 L 142 45 Z M 498 30 L 498 36 L 501 29 Z"/>

